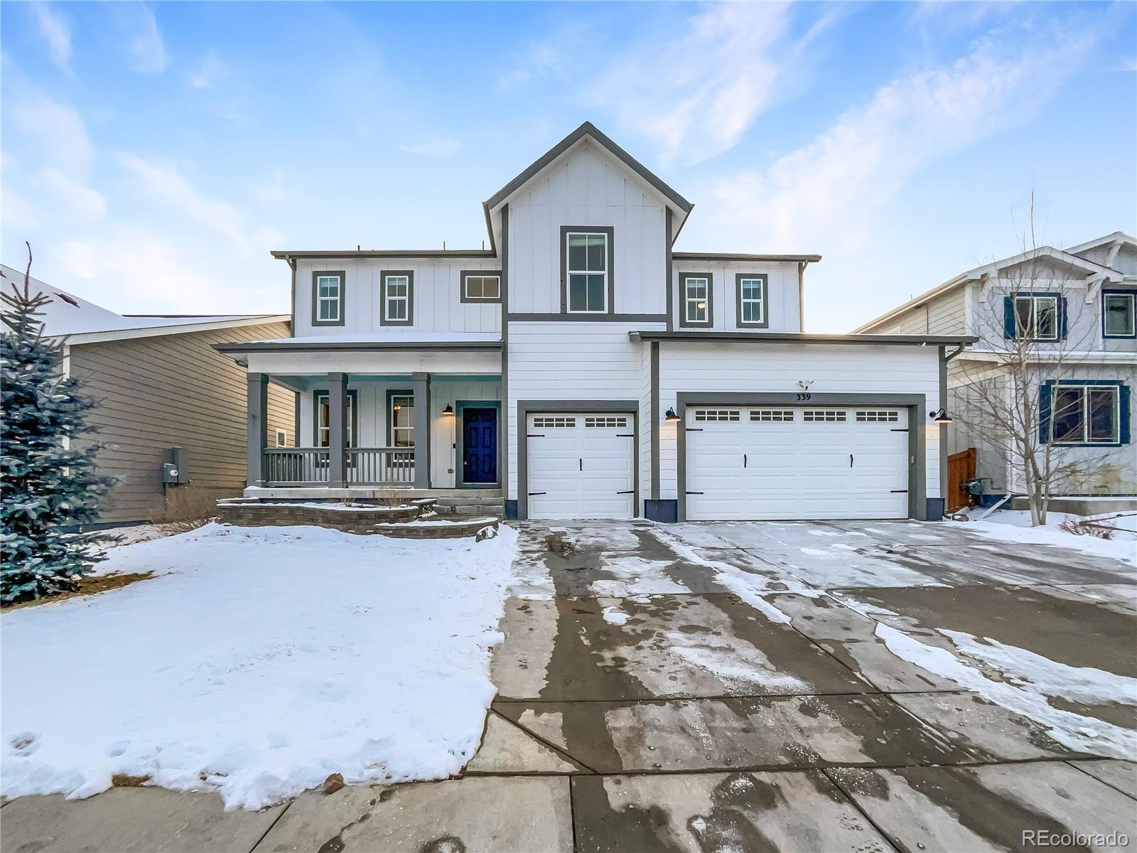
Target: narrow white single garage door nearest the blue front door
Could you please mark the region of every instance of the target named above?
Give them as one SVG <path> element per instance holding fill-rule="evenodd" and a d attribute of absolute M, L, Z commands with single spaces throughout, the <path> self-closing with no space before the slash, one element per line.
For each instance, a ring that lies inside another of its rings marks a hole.
<path fill-rule="evenodd" d="M 530 519 L 631 519 L 636 512 L 634 416 L 530 415 Z"/>

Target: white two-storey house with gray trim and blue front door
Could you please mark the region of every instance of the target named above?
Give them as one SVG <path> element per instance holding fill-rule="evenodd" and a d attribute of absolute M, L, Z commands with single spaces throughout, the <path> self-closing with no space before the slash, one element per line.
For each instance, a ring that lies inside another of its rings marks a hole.
<path fill-rule="evenodd" d="M 591 124 L 484 202 L 490 249 L 276 251 L 249 496 L 443 494 L 518 519 L 938 517 L 946 336 L 802 332 L 818 255 L 672 250 L 691 204 Z M 302 448 L 266 446 L 266 388 Z"/>

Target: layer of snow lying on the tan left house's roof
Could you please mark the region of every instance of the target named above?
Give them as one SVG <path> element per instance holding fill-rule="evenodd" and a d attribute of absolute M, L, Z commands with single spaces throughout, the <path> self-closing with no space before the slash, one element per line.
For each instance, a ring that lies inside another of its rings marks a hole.
<path fill-rule="evenodd" d="M 24 273 L 6 264 L 0 264 L 0 284 L 5 291 L 10 285 L 23 288 Z M 257 320 L 272 315 L 227 314 L 227 315 L 123 315 L 109 308 L 96 305 L 83 297 L 75 296 L 63 288 L 53 288 L 34 276 L 28 276 L 32 291 L 39 291 L 51 298 L 41 312 L 43 314 L 44 333 L 51 337 L 76 334 L 105 334 L 108 332 L 128 332 L 142 329 L 176 329 L 179 326 L 199 325 L 201 323 L 225 323 L 243 320 Z"/>

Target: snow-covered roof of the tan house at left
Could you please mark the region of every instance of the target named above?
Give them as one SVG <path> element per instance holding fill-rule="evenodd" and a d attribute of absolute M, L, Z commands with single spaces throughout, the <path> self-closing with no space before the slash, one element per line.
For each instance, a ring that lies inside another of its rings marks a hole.
<path fill-rule="evenodd" d="M 24 273 L 0 264 L 0 287 L 23 287 Z M 210 329 L 229 329 L 291 320 L 288 314 L 224 314 L 224 315 L 130 315 L 116 314 L 81 296 L 53 288 L 47 282 L 28 276 L 31 290 L 51 298 L 43 306 L 43 332 L 50 338 L 67 338 L 68 343 L 98 343 L 128 338 L 149 338 L 160 334 L 184 334 Z"/>

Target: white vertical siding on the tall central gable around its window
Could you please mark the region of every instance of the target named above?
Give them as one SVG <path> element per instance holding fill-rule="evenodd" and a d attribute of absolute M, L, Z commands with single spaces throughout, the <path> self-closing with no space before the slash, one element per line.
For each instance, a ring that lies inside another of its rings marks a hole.
<path fill-rule="evenodd" d="M 613 229 L 616 314 L 666 309 L 664 202 L 589 141 L 566 151 L 509 199 L 509 312 L 561 313 L 561 226 Z"/>

